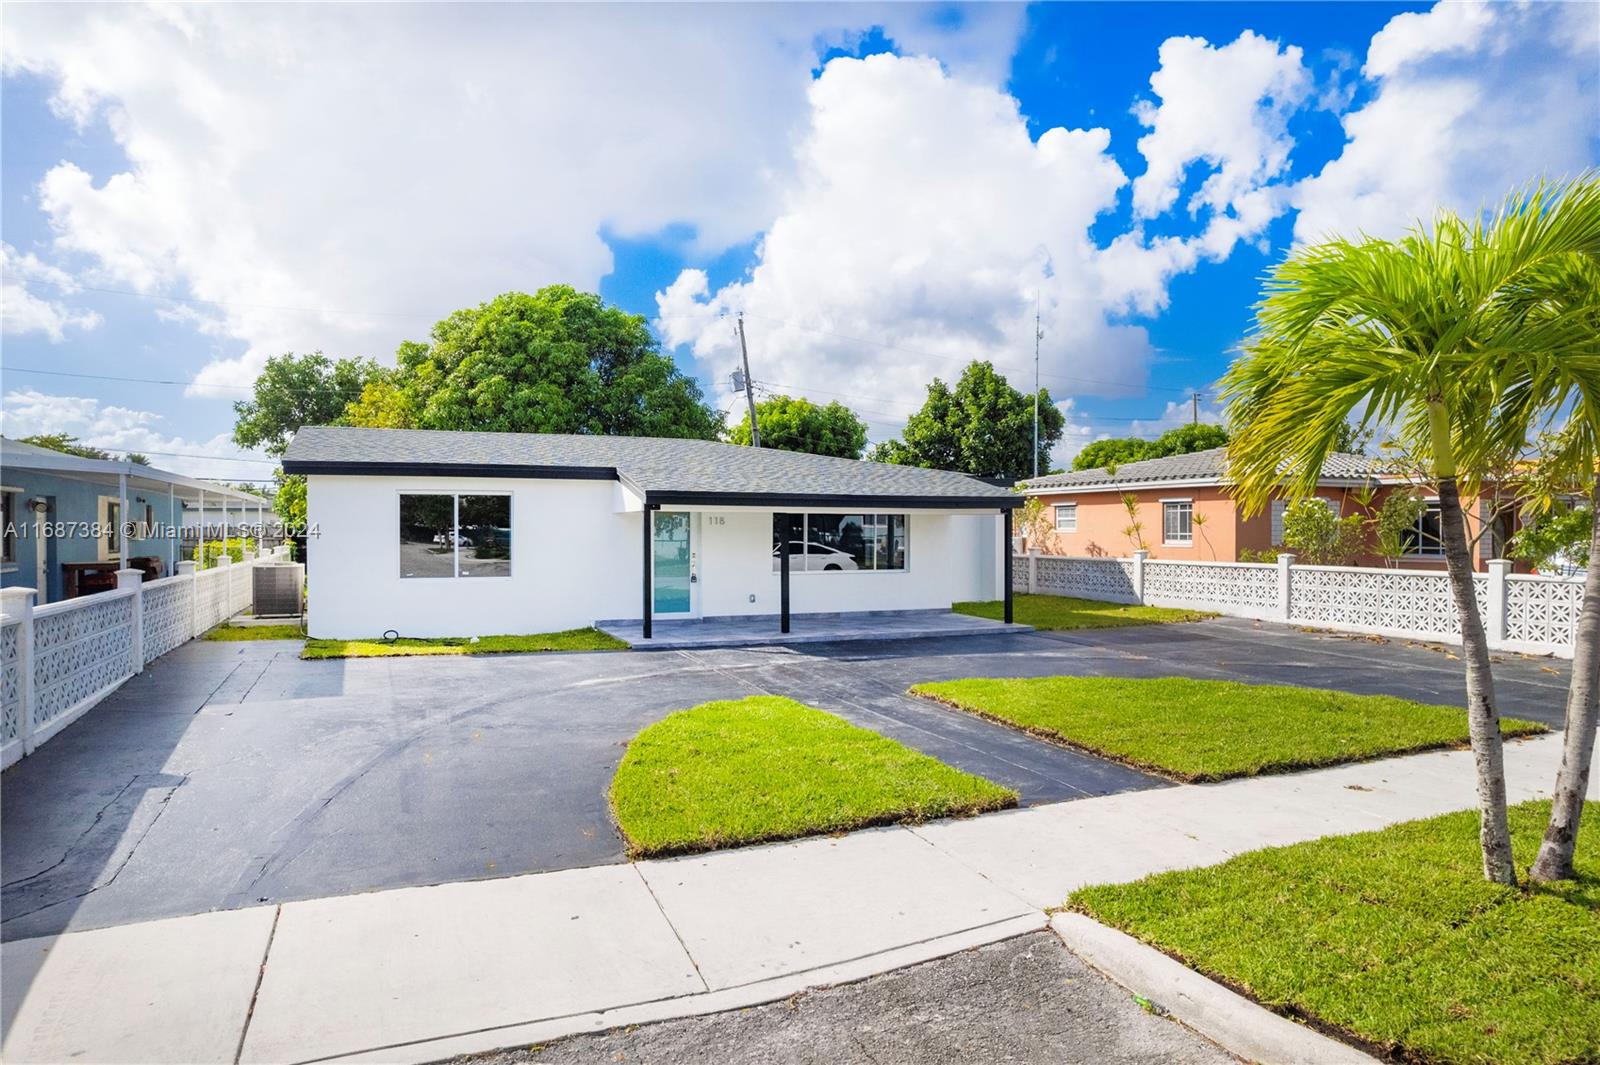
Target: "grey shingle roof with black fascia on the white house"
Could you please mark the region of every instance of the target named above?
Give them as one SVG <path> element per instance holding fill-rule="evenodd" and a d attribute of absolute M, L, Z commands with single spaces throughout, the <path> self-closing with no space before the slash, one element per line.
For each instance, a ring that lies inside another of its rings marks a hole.
<path fill-rule="evenodd" d="M 290 443 L 283 469 L 288 473 L 616 477 L 658 502 L 690 502 L 686 497 L 694 496 L 749 497 L 738 502 L 752 504 L 830 497 L 930 507 L 1014 507 L 1021 502 L 1006 488 L 949 470 L 658 437 L 309 425 Z"/>

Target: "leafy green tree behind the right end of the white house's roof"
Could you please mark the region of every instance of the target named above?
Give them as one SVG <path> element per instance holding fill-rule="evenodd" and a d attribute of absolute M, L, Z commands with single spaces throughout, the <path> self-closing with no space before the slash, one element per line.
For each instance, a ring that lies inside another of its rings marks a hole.
<path fill-rule="evenodd" d="M 1064 422 L 1050 392 L 1040 389 L 1038 469 L 1050 469 Z M 1013 389 L 990 363 L 971 363 L 954 389 L 934 377 L 902 438 L 878 445 L 869 457 L 1022 480 L 1034 473 L 1034 397 Z"/>

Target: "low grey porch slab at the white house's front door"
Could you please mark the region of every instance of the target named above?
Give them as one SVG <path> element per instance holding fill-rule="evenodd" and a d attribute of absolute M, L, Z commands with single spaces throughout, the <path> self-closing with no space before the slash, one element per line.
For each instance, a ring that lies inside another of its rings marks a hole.
<path fill-rule="evenodd" d="M 645 640 L 638 620 L 603 620 L 595 628 L 635 651 L 699 651 L 755 648 L 789 643 L 843 643 L 856 640 L 915 640 L 920 636 L 992 636 L 1034 632 L 1032 625 L 1006 625 L 954 611 L 867 611 L 851 614 L 792 614 L 789 632 L 778 630 L 778 616 L 698 617 L 658 620 Z"/>

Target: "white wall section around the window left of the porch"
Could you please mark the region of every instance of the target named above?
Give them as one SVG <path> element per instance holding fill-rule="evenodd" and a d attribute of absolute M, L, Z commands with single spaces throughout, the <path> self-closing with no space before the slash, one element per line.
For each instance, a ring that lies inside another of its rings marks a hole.
<path fill-rule="evenodd" d="M 402 494 L 509 494 L 510 577 L 400 577 Z M 640 614 L 640 515 L 614 481 L 486 477 L 307 478 L 312 636 L 491 636 Z"/>

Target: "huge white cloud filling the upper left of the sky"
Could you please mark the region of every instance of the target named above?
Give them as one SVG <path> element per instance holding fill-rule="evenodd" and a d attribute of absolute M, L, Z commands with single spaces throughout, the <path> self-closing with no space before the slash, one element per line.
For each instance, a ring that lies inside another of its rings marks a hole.
<path fill-rule="evenodd" d="M 874 26 L 994 78 L 1022 13 L 37 5 L 6 11 L 3 59 L 130 160 L 42 174 L 56 253 L 99 285 L 202 301 L 189 313 L 243 353 L 197 384 L 237 387 L 282 350 L 386 358 L 496 293 L 597 288 L 606 232 L 750 240 L 821 50 Z"/>

